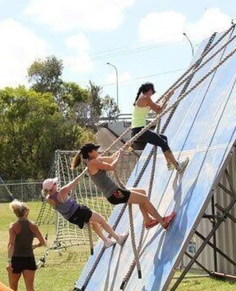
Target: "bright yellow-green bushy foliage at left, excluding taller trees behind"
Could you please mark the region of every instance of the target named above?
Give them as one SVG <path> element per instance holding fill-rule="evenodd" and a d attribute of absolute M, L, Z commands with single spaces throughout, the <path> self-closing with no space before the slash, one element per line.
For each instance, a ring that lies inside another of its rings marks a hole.
<path fill-rule="evenodd" d="M 4 179 L 44 178 L 56 149 L 77 149 L 93 135 L 68 122 L 51 93 L 0 90 L 0 172 Z"/>

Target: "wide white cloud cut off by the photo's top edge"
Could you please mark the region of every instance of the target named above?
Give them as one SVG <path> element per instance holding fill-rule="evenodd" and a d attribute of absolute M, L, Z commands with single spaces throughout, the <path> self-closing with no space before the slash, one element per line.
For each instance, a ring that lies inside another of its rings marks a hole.
<path fill-rule="evenodd" d="M 113 30 L 124 20 L 124 10 L 135 0 L 32 0 L 24 14 L 57 31 Z"/>

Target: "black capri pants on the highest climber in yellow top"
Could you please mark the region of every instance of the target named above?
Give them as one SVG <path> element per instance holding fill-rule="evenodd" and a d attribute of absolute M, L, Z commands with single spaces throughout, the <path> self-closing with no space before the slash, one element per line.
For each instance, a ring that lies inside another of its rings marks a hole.
<path fill-rule="evenodd" d="M 135 136 L 140 132 L 144 127 L 135 127 L 132 128 L 131 136 Z M 150 143 L 151 145 L 159 146 L 163 153 L 167 150 L 170 150 L 168 145 L 167 137 L 163 134 L 156 134 L 151 130 L 146 130 L 138 139 L 137 142 L 143 142 L 145 144 Z"/>

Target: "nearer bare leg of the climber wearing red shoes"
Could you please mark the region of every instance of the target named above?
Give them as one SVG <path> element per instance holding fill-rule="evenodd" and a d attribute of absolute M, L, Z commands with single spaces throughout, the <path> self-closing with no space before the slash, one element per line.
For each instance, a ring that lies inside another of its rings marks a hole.
<path fill-rule="evenodd" d="M 160 214 L 155 209 L 155 207 L 151 204 L 151 202 L 148 200 L 146 195 L 140 192 L 131 190 L 131 195 L 130 195 L 128 203 L 141 205 L 141 207 L 143 207 L 143 211 L 147 213 L 146 215 L 148 215 L 149 213 L 152 217 L 154 217 L 157 221 L 159 221 L 161 225 L 163 224 L 164 222 L 163 217 L 160 216 Z"/>

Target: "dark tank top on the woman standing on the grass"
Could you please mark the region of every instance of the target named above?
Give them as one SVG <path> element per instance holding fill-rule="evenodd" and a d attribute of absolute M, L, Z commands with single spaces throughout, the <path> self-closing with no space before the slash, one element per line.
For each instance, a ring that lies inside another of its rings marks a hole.
<path fill-rule="evenodd" d="M 16 240 L 14 244 L 13 257 L 33 257 L 32 243 L 34 238 L 34 233 L 29 228 L 29 220 L 20 220 L 21 230 L 16 235 Z"/>

